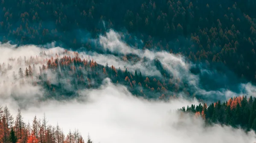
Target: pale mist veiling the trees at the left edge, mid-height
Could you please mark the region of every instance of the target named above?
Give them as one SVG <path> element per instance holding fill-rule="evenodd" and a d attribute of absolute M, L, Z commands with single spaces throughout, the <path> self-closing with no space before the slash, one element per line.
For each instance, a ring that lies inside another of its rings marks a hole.
<path fill-rule="evenodd" d="M 19 78 L 19 68 L 22 68 L 23 74 L 26 67 L 33 67 L 35 64 L 35 75 L 39 73 L 39 66 L 47 63 L 58 52 L 64 51 L 63 48 L 41 48 L 35 45 L 25 45 L 17 47 L 9 43 L 0 43 L 0 100 L 3 103 L 11 102 L 13 106 L 25 107 L 27 104 L 37 104 L 43 97 L 44 89 L 35 86 L 38 79 Z M 40 54 L 41 52 L 47 55 Z M 26 57 L 26 59 L 25 59 Z M 4 63 L 4 64 L 3 64 Z M 12 66 L 12 67 L 11 67 Z M 17 79 L 14 78 L 15 72 Z"/>

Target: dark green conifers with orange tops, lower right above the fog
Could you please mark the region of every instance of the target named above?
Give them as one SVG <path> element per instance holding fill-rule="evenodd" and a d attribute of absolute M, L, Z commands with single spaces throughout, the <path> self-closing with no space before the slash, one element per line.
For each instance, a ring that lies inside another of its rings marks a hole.
<path fill-rule="evenodd" d="M 247 98 L 239 96 L 230 98 L 228 101 L 221 101 L 198 106 L 191 105 L 182 107 L 183 112 L 194 113 L 196 116 L 201 116 L 206 123 L 221 123 L 222 125 L 230 125 L 233 127 L 241 127 L 249 131 L 256 131 L 256 98 Z"/>

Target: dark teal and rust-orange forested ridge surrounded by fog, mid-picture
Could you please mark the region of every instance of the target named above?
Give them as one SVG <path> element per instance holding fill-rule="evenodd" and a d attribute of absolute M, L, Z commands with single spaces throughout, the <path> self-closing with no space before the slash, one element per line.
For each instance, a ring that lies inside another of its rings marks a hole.
<path fill-rule="evenodd" d="M 175 82 L 174 80 L 169 81 L 169 79 L 154 76 L 148 78 L 141 72 L 137 75 L 137 71 L 134 75 L 127 69 L 122 71 L 120 68 L 109 67 L 108 64 L 103 66 L 91 60 L 81 59 L 79 56 L 49 59 L 47 66 L 42 65 L 39 70 L 39 75 L 29 74 L 28 71 L 28 75 L 23 77 L 21 74 L 20 78 L 35 76 L 36 84 L 41 85 L 47 91 L 44 94 L 45 98 L 73 98 L 79 94 L 80 90 L 98 88 L 106 78 L 111 79 L 113 83 L 125 85 L 132 94 L 148 99 L 168 100 L 173 96 L 172 93 L 175 89 L 175 83 L 172 83 Z M 180 81 L 180 84 L 183 82 Z M 183 91 L 185 90 L 180 89 L 175 92 Z"/>

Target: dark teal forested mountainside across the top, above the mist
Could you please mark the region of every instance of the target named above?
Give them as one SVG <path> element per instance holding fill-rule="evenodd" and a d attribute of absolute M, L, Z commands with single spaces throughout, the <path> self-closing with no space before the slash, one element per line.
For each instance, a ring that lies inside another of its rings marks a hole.
<path fill-rule="evenodd" d="M 2 41 L 57 41 L 92 49 L 89 38 L 126 28 L 144 41 L 144 48 L 223 63 L 239 77 L 256 81 L 252 0 L 2 0 L 0 5 Z"/>

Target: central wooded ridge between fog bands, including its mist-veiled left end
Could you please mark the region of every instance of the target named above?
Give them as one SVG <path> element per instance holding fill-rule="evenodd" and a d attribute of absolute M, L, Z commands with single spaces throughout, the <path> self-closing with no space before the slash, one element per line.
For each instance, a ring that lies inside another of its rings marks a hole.
<path fill-rule="evenodd" d="M 46 55 L 41 52 L 41 55 Z M 160 98 L 168 100 L 175 98 L 174 93 L 185 92 L 190 95 L 184 84 L 175 78 L 146 77 L 141 72 L 130 73 L 127 69 L 121 70 L 120 67 L 104 66 L 98 64 L 93 59 L 81 59 L 79 53 L 64 50 L 62 53 L 56 53 L 50 59 L 41 59 L 41 56 L 31 56 L 13 59 L 13 61 L 25 62 L 28 67 L 20 68 L 17 74 L 13 73 L 13 79 L 18 81 L 32 81 L 33 85 L 41 85 L 49 91 L 49 97 L 64 98 L 77 95 L 77 92 L 86 88 L 97 88 L 102 85 L 105 78 L 110 78 L 113 83 L 123 84 L 128 87 L 134 95 L 144 98 Z M 44 61 L 44 62 L 42 62 Z M 35 64 L 42 63 L 39 72 Z M 46 63 L 46 64 L 44 64 Z M 31 66 L 33 65 L 33 66 Z M 0 73 L 5 75 L 5 71 L 12 67 L 5 64 L 0 65 Z M 52 80 L 55 81 L 52 83 Z M 57 82 L 56 82 L 57 81 Z M 23 83 L 23 82 L 21 82 Z M 68 87 L 68 88 L 67 88 Z"/>

